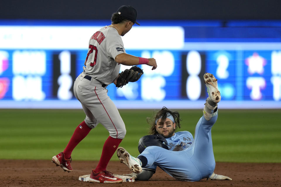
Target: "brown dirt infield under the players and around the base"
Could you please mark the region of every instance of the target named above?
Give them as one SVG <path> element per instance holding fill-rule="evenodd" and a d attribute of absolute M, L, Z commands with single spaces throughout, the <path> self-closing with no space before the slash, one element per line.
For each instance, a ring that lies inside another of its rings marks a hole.
<path fill-rule="evenodd" d="M 215 173 L 232 178 L 232 181 L 199 182 L 176 181 L 168 174 L 157 168 L 149 181 L 123 182 L 119 184 L 99 184 L 78 181 L 80 175 L 90 174 L 94 161 L 73 161 L 73 172 L 64 172 L 56 167 L 51 160 L 0 160 L 0 186 L 184 186 L 184 187 L 227 187 L 227 186 L 281 186 L 281 163 L 225 163 L 216 164 Z M 126 165 L 120 162 L 109 162 L 107 169 L 114 174 L 131 173 Z"/>

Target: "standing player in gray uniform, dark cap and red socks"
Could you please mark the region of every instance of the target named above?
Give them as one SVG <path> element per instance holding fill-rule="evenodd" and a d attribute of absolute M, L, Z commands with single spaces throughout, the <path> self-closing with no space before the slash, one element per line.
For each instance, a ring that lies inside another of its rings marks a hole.
<path fill-rule="evenodd" d="M 98 123 L 108 131 L 109 137 L 104 143 L 100 161 L 92 169 L 90 182 L 96 183 L 121 183 L 122 179 L 116 178 L 106 170 L 107 164 L 115 153 L 126 134 L 125 124 L 112 100 L 107 95 L 107 85 L 120 83 L 120 64 L 152 66 L 157 68 L 154 58 L 141 58 L 125 52 L 121 36 L 129 32 L 137 21 L 137 11 L 132 6 L 121 6 L 112 14 L 112 24 L 95 32 L 89 41 L 89 49 L 85 59 L 83 72 L 74 83 L 74 95 L 82 104 L 86 114 L 85 120 L 75 129 L 70 141 L 63 152 L 52 158 L 57 166 L 64 171 L 71 172 L 71 153 L 78 143 L 85 138 L 91 129 Z M 136 81 L 136 69 L 130 69 L 124 84 Z M 128 71 L 127 71 L 128 72 Z M 122 77 L 122 75 L 120 76 Z M 124 77 L 123 77 L 124 78 Z M 117 85 L 116 85 L 117 86 Z M 120 87 L 122 85 L 118 85 Z M 92 144 L 94 145 L 94 144 Z"/>

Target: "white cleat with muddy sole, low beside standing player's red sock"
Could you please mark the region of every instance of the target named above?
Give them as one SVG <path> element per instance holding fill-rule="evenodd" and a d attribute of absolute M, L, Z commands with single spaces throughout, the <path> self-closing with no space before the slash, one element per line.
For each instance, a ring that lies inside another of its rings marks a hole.
<path fill-rule="evenodd" d="M 126 149 L 122 147 L 117 148 L 117 157 L 120 162 L 126 164 L 132 172 L 140 173 L 142 171 L 141 161 L 138 158 L 131 156 Z"/>

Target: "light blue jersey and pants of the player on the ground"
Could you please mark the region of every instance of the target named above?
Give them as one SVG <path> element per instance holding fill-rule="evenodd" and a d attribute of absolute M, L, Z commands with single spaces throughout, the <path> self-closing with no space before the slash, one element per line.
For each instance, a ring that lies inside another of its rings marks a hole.
<path fill-rule="evenodd" d="M 158 166 L 181 181 L 200 181 L 208 178 L 215 169 L 211 128 L 216 120 L 217 115 L 210 121 L 202 116 L 196 125 L 194 140 L 188 131 L 177 132 L 171 138 L 166 138 L 169 150 L 158 146 L 145 148 L 140 154 L 148 160 L 143 169 L 155 171 Z M 182 145 L 184 150 L 171 151 L 177 145 Z"/>

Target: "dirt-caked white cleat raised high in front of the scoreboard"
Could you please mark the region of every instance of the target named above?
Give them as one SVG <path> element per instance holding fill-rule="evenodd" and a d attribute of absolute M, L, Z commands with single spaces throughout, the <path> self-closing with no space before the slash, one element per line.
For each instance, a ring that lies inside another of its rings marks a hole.
<path fill-rule="evenodd" d="M 217 88 L 217 79 L 214 77 L 214 75 L 210 73 L 205 73 L 204 81 L 207 87 L 209 98 L 215 103 L 220 102 L 220 91 Z"/>

